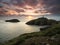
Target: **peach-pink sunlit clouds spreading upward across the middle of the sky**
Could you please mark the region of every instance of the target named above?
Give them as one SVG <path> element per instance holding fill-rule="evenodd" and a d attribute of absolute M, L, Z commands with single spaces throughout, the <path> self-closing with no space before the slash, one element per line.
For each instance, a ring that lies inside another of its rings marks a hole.
<path fill-rule="evenodd" d="M 20 12 L 17 12 L 16 10 L 9 10 L 6 14 L 10 14 L 10 15 L 14 15 L 14 14 L 15 15 L 45 15 L 47 14 L 46 10 L 40 9 L 41 11 L 38 11 L 39 8 L 33 8 L 28 5 L 24 6 L 23 8 L 19 8 L 19 7 L 15 7 L 15 8 L 17 8 Z"/>

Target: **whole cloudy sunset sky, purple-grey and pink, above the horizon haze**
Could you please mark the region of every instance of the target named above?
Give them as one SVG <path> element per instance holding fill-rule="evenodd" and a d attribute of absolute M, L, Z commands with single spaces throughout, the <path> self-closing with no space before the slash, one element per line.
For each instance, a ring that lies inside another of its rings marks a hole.
<path fill-rule="evenodd" d="M 0 14 L 60 14 L 60 0 L 0 0 Z"/>

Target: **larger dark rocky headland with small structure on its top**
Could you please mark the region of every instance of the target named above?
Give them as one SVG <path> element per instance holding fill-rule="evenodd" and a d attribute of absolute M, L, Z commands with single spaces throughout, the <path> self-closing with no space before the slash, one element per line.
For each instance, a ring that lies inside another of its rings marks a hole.
<path fill-rule="evenodd" d="M 39 25 L 39 26 L 44 26 L 44 25 L 53 25 L 53 24 L 57 24 L 58 21 L 53 20 L 53 19 L 47 19 L 45 17 L 41 17 L 38 19 L 34 19 L 31 21 L 28 21 L 26 24 L 27 25 Z"/>

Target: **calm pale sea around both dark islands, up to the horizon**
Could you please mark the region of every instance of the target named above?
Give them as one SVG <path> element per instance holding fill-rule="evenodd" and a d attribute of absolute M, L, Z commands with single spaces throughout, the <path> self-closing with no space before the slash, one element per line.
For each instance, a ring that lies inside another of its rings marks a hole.
<path fill-rule="evenodd" d="M 29 20 L 36 19 L 42 16 L 0 16 L 0 42 L 4 42 L 15 38 L 24 33 L 38 32 L 40 27 L 43 26 L 32 26 L 26 25 L 25 23 Z M 59 15 L 45 15 L 48 19 L 60 20 Z M 5 22 L 8 19 L 18 19 L 18 23 Z"/>

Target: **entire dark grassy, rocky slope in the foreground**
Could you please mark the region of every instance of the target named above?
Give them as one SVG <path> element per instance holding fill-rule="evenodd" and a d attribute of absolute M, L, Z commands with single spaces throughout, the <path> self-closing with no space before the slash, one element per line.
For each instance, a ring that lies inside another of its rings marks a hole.
<path fill-rule="evenodd" d="M 60 45 L 60 23 L 44 31 L 20 35 L 3 45 Z"/>

